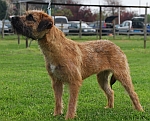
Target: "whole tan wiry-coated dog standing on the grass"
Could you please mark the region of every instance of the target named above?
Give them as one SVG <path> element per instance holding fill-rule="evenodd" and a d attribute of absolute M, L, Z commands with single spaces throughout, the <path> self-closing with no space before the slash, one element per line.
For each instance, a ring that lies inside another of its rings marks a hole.
<path fill-rule="evenodd" d="M 69 104 L 66 119 L 76 116 L 79 88 L 85 78 L 96 74 L 97 81 L 107 97 L 105 108 L 114 107 L 114 91 L 111 86 L 118 80 L 128 92 L 138 111 L 143 111 L 134 91 L 126 55 L 108 40 L 75 42 L 56 28 L 51 16 L 43 11 L 27 11 L 12 18 L 14 30 L 38 41 L 44 54 L 46 69 L 52 80 L 55 97 L 54 116 L 62 114 L 63 85 L 69 85 Z M 108 77 L 111 76 L 111 79 Z M 110 81 L 110 84 L 109 84 Z"/>

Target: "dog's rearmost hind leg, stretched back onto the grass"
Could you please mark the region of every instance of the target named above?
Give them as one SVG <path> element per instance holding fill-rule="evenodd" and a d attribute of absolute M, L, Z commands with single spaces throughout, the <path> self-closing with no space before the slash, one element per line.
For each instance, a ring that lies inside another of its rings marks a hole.
<path fill-rule="evenodd" d="M 128 92 L 135 109 L 139 110 L 139 111 L 143 111 L 143 108 L 140 104 L 138 96 L 137 96 L 136 92 L 134 91 L 131 77 L 128 72 L 129 71 L 119 71 L 117 74 L 115 74 L 115 77 L 118 81 L 121 82 L 121 84 L 123 85 L 125 90 Z"/>

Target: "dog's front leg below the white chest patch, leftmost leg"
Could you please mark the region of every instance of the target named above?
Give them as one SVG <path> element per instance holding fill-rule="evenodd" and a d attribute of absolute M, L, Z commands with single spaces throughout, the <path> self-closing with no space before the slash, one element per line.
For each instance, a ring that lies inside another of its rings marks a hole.
<path fill-rule="evenodd" d="M 62 104 L 62 93 L 63 93 L 63 83 L 60 81 L 53 81 L 53 89 L 55 95 L 55 109 L 54 116 L 61 115 L 63 104 Z"/>

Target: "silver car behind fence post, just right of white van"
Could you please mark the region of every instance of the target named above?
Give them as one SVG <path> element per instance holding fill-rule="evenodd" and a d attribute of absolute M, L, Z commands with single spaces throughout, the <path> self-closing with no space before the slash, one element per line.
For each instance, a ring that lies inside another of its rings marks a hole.
<path fill-rule="evenodd" d="M 79 33 L 80 21 L 69 21 L 69 33 Z M 81 22 L 82 34 L 95 34 L 96 30 L 87 25 L 85 22 Z"/>

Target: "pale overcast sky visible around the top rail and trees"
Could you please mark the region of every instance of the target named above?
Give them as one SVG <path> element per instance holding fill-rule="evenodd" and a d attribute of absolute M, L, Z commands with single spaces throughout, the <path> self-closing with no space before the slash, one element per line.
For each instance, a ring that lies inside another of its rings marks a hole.
<path fill-rule="evenodd" d="M 104 4 L 103 2 L 104 0 L 82 0 L 82 4 Z M 150 0 L 121 0 L 122 1 L 122 5 L 131 5 L 131 6 L 146 6 L 148 4 L 148 6 L 150 6 Z M 130 9 L 128 9 L 130 10 Z M 131 8 L 131 10 L 137 12 L 138 14 L 143 14 L 145 13 L 145 9 L 142 8 Z M 150 8 L 148 8 L 148 14 L 150 14 Z"/>

